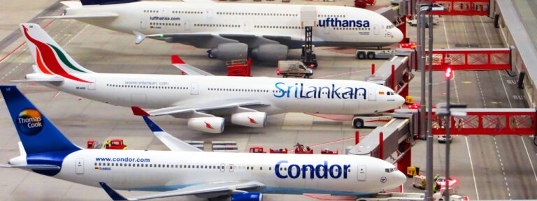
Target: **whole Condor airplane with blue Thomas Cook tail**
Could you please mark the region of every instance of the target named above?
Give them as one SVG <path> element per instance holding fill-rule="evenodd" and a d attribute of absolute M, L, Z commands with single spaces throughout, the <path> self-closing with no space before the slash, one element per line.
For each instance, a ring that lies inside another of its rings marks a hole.
<path fill-rule="evenodd" d="M 195 195 L 216 200 L 262 200 L 261 193 L 371 195 L 401 186 L 406 176 L 369 156 L 204 152 L 143 117 L 171 151 L 82 149 L 15 86 L 0 86 L 19 134 L 20 156 L 1 168 L 20 168 L 87 186 L 113 200 Z M 143 172 L 143 174 L 141 174 Z M 125 198 L 117 190 L 160 191 Z"/>

